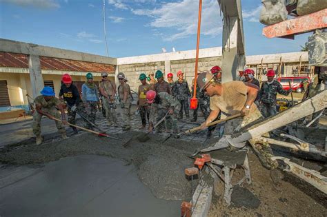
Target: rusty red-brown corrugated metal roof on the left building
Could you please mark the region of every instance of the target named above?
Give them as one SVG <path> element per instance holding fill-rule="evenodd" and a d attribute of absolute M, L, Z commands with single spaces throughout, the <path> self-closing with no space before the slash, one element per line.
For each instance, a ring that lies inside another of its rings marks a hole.
<path fill-rule="evenodd" d="M 42 70 L 115 73 L 115 65 L 40 56 Z M 0 52 L 0 67 L 28 68 L 28 55 Z"/>

